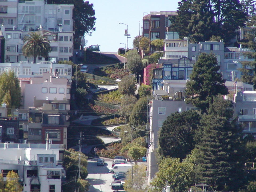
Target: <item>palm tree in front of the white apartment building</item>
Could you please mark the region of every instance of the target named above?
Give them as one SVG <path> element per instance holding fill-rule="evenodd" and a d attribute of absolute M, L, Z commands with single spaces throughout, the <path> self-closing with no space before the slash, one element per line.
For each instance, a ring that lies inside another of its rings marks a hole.
<path fill-rule="evenodd" d="M 46 58 L 51 52 L 48 38 L 38 32 L 29 33 L 29 36 L 24 37 L 23 43 L 25 43 L 22 47 L 23 55 L 26 57 L 34 57 L 34 63 L 36 63 L 37 57 Z"/>

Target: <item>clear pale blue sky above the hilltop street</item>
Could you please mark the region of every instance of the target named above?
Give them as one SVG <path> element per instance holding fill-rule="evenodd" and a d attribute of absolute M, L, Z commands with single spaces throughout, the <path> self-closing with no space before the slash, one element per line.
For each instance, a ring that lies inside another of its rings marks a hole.
<path fill-rule="evenodd" d="M 124 36 L 128 25 L 128 46 L 133 46 L 133 39 L 139 35 L 139 22 L 142 27 L 143 14 L 150 11 L 176 11 L 180 0 L 88 0 L 93 3 L 95 10 L 96 30 L 91 36 L 86 35 L 89 45 L 101 45 L 101 51 L 117 51 L 119 47 L 125 47 L 120 43 L 126 43 Z M 142 35 L 142 29 L 140 29 Z"/>

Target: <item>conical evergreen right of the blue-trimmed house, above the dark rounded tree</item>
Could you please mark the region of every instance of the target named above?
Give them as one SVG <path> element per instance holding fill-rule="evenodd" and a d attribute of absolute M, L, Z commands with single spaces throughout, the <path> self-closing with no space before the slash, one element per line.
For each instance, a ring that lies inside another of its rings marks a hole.
<path fill-rule="evenodd" d="M 228 94 L 225 80 L 218 71 L 215 55 L 202 53 L 193 67 L 191 81 L 186 83 L 186 94 L 190 96 L 186 102 L 192 103 L 203 113 L 206 113 L 210 103 L 213 103 L 213 96 Z"/>

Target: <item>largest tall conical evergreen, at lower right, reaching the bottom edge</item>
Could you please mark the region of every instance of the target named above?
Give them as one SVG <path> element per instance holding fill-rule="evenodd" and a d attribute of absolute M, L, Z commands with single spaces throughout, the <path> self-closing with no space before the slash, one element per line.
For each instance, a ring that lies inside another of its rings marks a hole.
<path fill-rule="evenodd" d="M 195 133 L 195 149 L 190 159 L 200 182 L 213 190 L 237 189 L 244 185 L 245 145 L 242 129 L 236 120 L 230 121 L 233 110 L 230 101 L 221 96 L 214 97 L 209 113 L 204 114 Z"/>

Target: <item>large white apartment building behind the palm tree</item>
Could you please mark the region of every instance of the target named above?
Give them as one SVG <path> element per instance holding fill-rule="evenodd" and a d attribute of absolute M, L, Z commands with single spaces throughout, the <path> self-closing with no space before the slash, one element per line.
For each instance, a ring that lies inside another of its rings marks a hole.
<path fill-rule="evenodd" d="M 74 5 L 48 5 L 43 0 L 1 0 L 1 3 L 4 5 L 0 5 L 0 35 L 5 38 L 2 62 L 33 61 L 32 57 L 23 56 L 22 47 L 23 38 L 35 30 L 46 34 L 50 41 L 49 61 L 69 61 L 73 56 Z M 37 62 L 40 61 L 45 58 L 38 57 Z"/>

